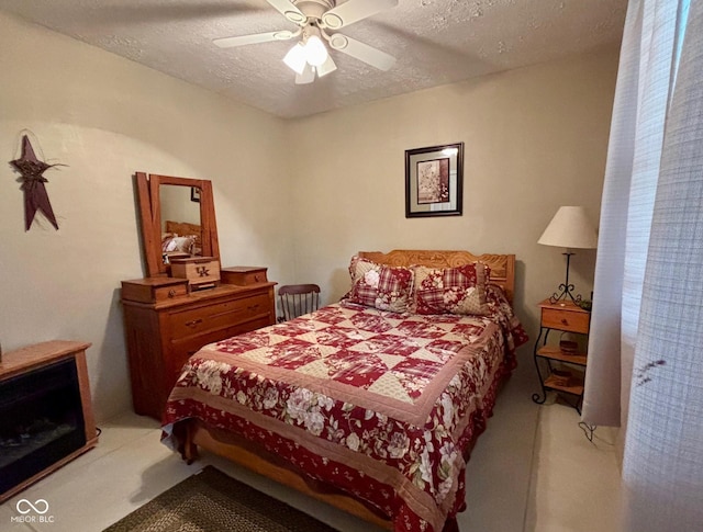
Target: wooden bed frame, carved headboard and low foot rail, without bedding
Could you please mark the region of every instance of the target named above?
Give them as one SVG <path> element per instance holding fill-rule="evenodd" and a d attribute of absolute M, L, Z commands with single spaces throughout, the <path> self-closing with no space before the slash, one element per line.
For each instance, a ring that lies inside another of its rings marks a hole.
<path fill-rule="evenodd" d="M 491 283 L 500 285 L 512 302 L 515 286 L 514 254 L 472 254 L 468 251 L 433 251 L 433 250 L 393 250 L 389 253 L 380 251 L 361 251 L 359 257 L 388 265 L 427 265 L 433 268 L 457 267 L 471 262 L 483 262 L 491 268 Z M 198 457 L 198 448 L 202 448 L 220 456 L 242 465 L 255 473 L 291 487 L 310 497 L 339 508 L 386 530 L 392 530 L 392 522 L 367 507 L 362 501 L 336 490 L 334 487 L 311 484 L 306 476 L 295 472 L 276 460 L 276 456 L 255 450 L 250 444 L 236 441 L 223 434 L 212 433 L 204 423 L 189 419 L 174 428 L 179 441 L 183 460 L 189 464 Z M 473 444 L 473 442 L 472 442 Z M 471 444 L 471 445 L 472 445 Z M 458 532 L 456 519 L 449 519 L 444 531 Z"/>

